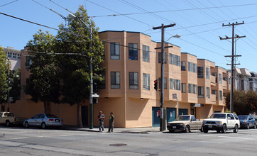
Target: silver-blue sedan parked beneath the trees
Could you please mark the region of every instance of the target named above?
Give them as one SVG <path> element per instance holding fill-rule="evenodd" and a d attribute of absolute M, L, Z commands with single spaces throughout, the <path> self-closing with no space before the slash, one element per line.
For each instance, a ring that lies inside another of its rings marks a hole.
<path fill-rule="evenodd" d="M 52 127 L 52 126 L 61 127 L 63 126 L 63 121 L 61 118 L 58 118 L 53 114 L 40 113 L 24 121 L 23 126 L 26 128 L 28 128 L 29 126 L 38 126 L 43 129 L 46 127 Z"/>

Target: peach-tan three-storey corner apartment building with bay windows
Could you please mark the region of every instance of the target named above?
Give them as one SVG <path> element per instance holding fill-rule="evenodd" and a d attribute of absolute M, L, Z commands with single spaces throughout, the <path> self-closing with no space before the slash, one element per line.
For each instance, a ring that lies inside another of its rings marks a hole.
<path fill-rule="evenodd" d="M 102 111 L 105 126 L 112 111 L 115 127 L 136 128 L 160 126 L 158 109 L 159 91 L 154 89 L 154 80 L 160 78 L 160 43 L 151 36 L 126 31 L 104 31 L 99 33 L 106 40 L 104 62 L 105 81 L 99 89 L 99 101 L 94 104 L 94 126 L 98 126 L 97 115 Z M 165 43 L 165 46 L 172 44 Z M 224 92 L 229 90 L 230 74 L 209 60 L 180 52 L 180 47 L 165 48 L 164 108 L 167 121 L 175 120 L 177 106 L 179 114 L 194 114 L 204 119 L 214 112 L 224 112 Z M 21 53 L 26 53 L 22 50 Z M 26 85 L 29 71 L 25 55 L 21 56 L 21 85 Z M 226 78 L 226 81 L 224 80 Z M 160 84 L 160 83 L 158 83 Z M 177 99 L 173 99 L 174 95 Z M 21 101 L 11 104 L 10 110 L 17 116 L 31 117 L 43 113 L 43 104 L 35 104 L 22 91 Z M 77 106 L 49 104 L 50 113 L 63 118 L 67 125 L 77 125 Z M 88 125 L 89 101 L 82 104 L 82 121 Z"/>

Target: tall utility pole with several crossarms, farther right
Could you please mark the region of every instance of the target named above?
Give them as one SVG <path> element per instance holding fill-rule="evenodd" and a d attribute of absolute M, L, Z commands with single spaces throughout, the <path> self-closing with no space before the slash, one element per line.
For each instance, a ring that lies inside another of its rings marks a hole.
<path fill-rule="evenodd" d="M 234 35 L 234 28 L 236 25 L 244 24 L 244 21 L 242 23 L 229 23 L 229 24 L 222 24 L 222 26 L 232 26 L 232 37 L 229 38 L 226 36 L 226 38 L 222 38 L 219 36 L 220 40 L 228 40 L 232 39 L 232 55 L 226 55 L 225 57 L 231 57 L 231 90 L 230 90 L 230 113 L 233 113 L 234 110 L 234 65 L 240 65 L 240 64 L 234 64 L 234 57 L 241 57 L 241 55 L 234 55 L 234 39 L 235 38 L 245 38 L 244 36 Z"/>

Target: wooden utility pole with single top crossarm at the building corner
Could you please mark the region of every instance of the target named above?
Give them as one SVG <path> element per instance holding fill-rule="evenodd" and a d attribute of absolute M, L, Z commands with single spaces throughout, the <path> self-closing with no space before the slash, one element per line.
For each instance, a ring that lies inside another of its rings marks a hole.
<path fill-rule="evenodd" d="M 162 24 L 162 26 L 158 26 L 158 27 L 153 27 L 153 30 L 155 29 L 160 29 L 162 31 L 162 35 L 161 35 L 161 67 L 160 67 L 160 131 L 164 130 L 164 125 L 163 123 L 165 123 L 165 120 L 163 120 L 163 104 L 164 104 L 164 28 L 168 28 L 168 27 L 173 27 L 176 24 L 170 24 L 170 25 L 166 25 L 164 26 Z M 167 56 L 168 57 L 168 56 Z"/>

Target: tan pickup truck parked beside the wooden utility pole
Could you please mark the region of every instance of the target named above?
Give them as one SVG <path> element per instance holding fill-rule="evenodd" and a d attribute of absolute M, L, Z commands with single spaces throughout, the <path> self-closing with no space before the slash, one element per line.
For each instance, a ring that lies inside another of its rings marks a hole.
<path fill-rule="evenodd" d="M 192 115 L 183 115 L 178 116 L 175 121 L 169 122 L 167 128 L 170 132 L 180 130 L 189 133 L 190 130 L 202 130 L 202 121 L 195 119 L 195 116 Z"/>

